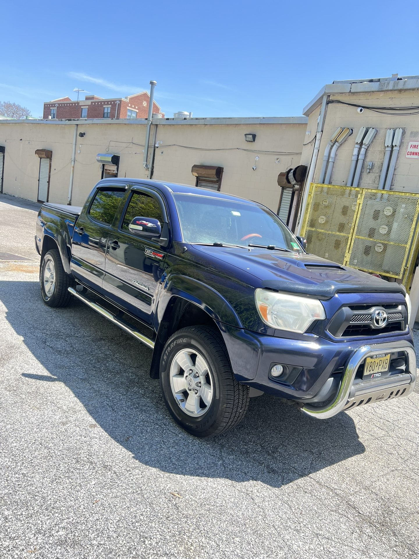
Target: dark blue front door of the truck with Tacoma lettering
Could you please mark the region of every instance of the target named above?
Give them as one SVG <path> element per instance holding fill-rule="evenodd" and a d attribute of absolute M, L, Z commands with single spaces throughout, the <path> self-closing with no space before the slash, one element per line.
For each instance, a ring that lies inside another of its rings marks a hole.
<path fill-rule="evenodd" d="M 163 199 L 146 188 L 131 191 L 125 214 L 109 235 L 103 295 L 151 325 L 166 249 L 149 236 L 131 233 L 128 225 L 134 217 L 158 219 L 163 226 L 167 221 Z"/>

